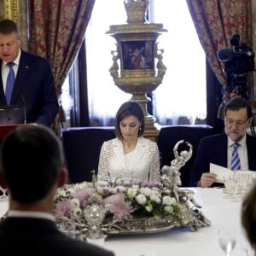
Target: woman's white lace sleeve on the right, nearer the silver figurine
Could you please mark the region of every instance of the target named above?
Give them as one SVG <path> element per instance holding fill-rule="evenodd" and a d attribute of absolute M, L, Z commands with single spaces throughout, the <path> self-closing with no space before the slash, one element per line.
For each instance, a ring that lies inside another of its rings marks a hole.
<path fill-rule="evenodd" d="M 149 172 L 150 182 L 160 182 L 160 153 L 156 143 L 153 144 L 152 148 L 152 158 Z"/>

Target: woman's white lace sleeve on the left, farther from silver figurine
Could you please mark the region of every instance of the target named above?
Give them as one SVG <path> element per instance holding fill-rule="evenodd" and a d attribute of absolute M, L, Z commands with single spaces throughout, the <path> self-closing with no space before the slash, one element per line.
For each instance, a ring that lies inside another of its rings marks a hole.
<path fill-rule="evenodd" d="M 104 142 L 102 144 L 99 166 L 98 166 L 98 177 L 100 179 L 108 180 L 108 162 L 109 162 L 109 154 L 108 154 L 108 142 Z"/>

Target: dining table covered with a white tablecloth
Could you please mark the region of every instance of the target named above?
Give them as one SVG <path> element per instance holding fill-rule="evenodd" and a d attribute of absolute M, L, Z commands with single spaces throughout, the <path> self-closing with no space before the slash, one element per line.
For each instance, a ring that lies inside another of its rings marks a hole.
<path fill-rule="evenodd" d="M 183 188 L 180 188 L 183 189 Z M 116 256 L 216 256 L 225 255 L 218 244 L 218 229 L 236 229 L 236 246 L 231 256 L 247 255 L 241 247 L 241 202 L 245 194 L 230 198 L 224 189 L 186 188 L 194 191 L 200 211 L 211 221 L 209 226 L 192 231 L 189 225 L 165 231 L 108 235 L 99 245 Z M 8 201 L 0 201 L 0 217 Z"/>

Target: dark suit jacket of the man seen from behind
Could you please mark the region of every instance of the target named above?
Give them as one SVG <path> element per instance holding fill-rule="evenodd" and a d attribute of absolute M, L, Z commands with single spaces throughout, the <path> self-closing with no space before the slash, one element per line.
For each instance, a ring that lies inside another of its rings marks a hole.
<path fill-rule="evenodd" d="M 5 218 L 0 223 L 1 255 L 113 256 L 101 247 L 72 239 L 41 218 Z"/>

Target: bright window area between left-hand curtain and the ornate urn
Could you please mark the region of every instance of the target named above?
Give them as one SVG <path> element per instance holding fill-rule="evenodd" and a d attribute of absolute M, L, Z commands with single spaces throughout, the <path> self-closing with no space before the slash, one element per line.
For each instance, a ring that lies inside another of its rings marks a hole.
<path fill-rule="evenodd" d="M 111 8 L 109 8 L 111 3 Z M 131 98 L 114 85 L 109 68 L 115 39 L 106 34 L 110 25 L 125 23 L 125 6 L 120 0 L 97 0 L 87 27 L 86 58 L 89 111 L 92 125 L 113 125 L 119 106 Z"/>

